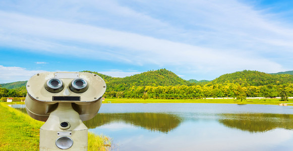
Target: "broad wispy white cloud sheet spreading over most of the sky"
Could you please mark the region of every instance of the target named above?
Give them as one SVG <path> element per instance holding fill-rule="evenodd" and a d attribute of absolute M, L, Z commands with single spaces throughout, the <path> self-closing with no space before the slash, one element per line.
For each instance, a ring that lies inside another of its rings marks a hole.
<path fill-rule="evenodd" d="M 290 26 L 238 1 L 34 3 L 22 4 L 29 13 L 0 11 L 0 45 L 209 75 L 284 71 L 293 55 Z"/>

